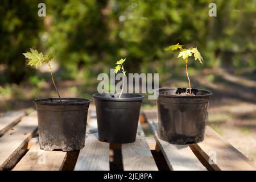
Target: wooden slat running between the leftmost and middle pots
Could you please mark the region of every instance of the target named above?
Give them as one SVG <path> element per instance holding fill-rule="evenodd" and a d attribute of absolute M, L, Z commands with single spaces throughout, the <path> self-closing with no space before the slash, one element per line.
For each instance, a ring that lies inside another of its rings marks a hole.
<path fill-rule="evenodd" d="M 95 111 L 86 128 L 85 147 L 80 150 L 75 171 L 109 171 L 109 143 L 100 142 Z"/>

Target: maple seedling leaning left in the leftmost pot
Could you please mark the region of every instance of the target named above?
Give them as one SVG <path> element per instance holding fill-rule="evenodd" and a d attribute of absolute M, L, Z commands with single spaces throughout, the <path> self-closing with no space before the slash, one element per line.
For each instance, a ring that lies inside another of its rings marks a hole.
<path fill-rule="evenodd" d="M 39 53 L 37 50 L 34 50 L 32 48 L 30 48 L 30 51 L 31 52 L 22 53 L 28 59 L 27 65 L 35 66 L 36 69 L 38 69 L 42 64 L 47 64 L 48 65 L 49 71 L 51 72 L 53 85 L 55 87 L 55 90 L 56 90 L 59 98 L 60 98 L 60 103 L 62 103 L 59 91 L 58 91 L 57 86 L 55 85 L 55 81 L 53 79 L 52 67 L 51 67 L 51 64 L 50 64 L 50 61 L 52 60 L 53 55 L 55 53 L 52 52 L 52 53 L 49 53 L 48 56 L 46 56 L 46 55 L 43 55 L 42 52 Z"/>

